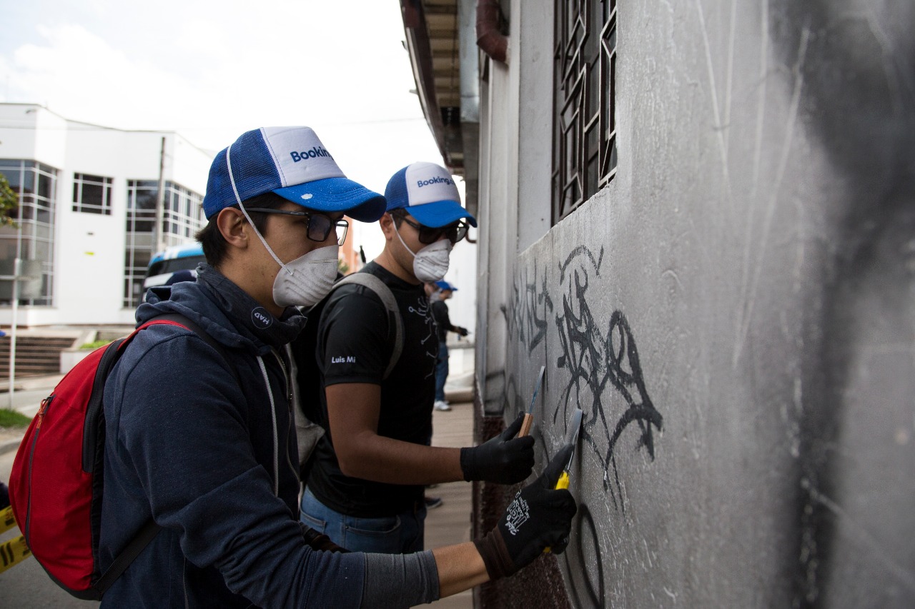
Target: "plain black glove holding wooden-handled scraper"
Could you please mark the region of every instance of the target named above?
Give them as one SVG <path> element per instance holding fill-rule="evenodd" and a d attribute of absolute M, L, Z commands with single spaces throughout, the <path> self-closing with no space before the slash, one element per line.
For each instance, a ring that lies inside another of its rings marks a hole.
<path fill-rule="evenodd" d="M 514 437 L 521 429 L 523 420 L 522 412 L 515 422 L 496 437 L 479 446 L 460 449 L 460 468 L 464 472 L 465 480 L 485 480 L 513 485 L 531 475 L 533 438 Z"/>

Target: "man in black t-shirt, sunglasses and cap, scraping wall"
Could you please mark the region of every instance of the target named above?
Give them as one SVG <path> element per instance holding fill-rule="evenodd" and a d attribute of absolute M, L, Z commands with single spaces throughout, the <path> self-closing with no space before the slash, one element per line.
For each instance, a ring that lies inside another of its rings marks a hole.
<path fill-rule="evenodd" d="M 393 175 L 380 220 L 385 245 L 361 272 L 393 293 L 403 321 L 394 350 L 386 307 L 371 289 L 339 287 L 318 322 L 317 358 L 327 433 L 315 449 L 301 518 L 349 550 L 423 550 L 425 485 L 457 480 L 514 484 L 533 468 L 521 419 L 469 448 L 427 445 L 432 432 L 438 338 L 424 282 L 445 276 L 451 248 L 477 220 L 460 205 L 447 169 L 414 163 Z"/>

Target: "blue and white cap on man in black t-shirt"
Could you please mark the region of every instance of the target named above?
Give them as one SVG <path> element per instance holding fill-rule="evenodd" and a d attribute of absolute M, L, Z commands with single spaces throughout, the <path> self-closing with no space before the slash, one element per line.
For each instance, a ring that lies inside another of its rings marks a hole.
<path fill-rule="evenodd" d="M 470 226 L 477 226 L 477 219 L 461 207 L 451 174 L 435 163 L 419 161 L 405 166 L 388 180 L 384 198 L 388 199 L 388 211 L 404 208 L 420 224 L 433 229 L 464 218 Z"/>

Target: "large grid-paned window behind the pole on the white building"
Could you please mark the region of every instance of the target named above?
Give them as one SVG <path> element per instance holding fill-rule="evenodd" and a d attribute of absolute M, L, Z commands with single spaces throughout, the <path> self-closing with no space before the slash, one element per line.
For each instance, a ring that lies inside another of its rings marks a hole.
<path fill-rule="evenodd" d="M 143 297 L 146 267 L 156 253 L 155 180 L 127 181 L 127 226 L 124 248 L 124 306 L 135 307 Z M 194 239 L 203 228 L 203 197 L 180 184 L 166 182 L 162 239 L 165 247 L 182 245 Z"/>

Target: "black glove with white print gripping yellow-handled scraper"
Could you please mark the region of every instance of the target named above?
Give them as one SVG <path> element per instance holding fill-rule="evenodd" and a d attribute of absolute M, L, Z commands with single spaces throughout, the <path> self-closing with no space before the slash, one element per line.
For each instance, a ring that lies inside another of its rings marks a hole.
<path fill-rule="evenodd" d="M 554 490 L 554 486 L 572 449 L 572 444 L 566 444 L 544 473 L 515 495 L 496 528 L 474 540 L 490 580 L 518 572 L 546 548 L 556 554 L 565 550 L 578 508 L 568 489 Z"/>

